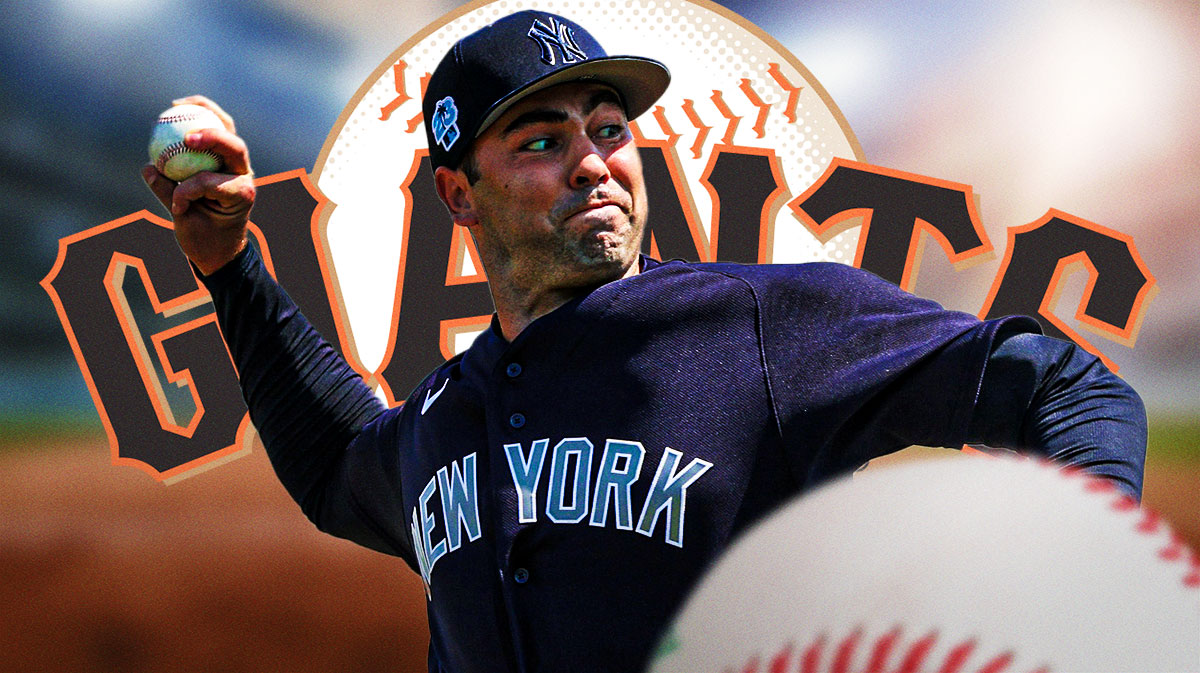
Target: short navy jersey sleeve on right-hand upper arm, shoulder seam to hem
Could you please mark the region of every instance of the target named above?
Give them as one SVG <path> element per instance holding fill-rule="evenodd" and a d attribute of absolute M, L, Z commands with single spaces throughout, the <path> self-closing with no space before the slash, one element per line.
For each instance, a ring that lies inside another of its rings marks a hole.
<path fill-rule="evenodd" d="M 947 311 L 844 264 L 760 269 L 767 379 L 800 483 L 914 444 L 962 446 L 994 344 L 1038 330 Z"/>

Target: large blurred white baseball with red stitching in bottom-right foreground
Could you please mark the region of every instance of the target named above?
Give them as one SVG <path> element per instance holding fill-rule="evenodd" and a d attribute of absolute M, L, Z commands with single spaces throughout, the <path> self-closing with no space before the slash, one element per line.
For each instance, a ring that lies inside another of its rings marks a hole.
<path fill-rule="evenodd" d="M 1200 566 L 1109 483 L 1042 463 L 868 470 L 736 542 L 652 669 L 1200 671 Z"/>

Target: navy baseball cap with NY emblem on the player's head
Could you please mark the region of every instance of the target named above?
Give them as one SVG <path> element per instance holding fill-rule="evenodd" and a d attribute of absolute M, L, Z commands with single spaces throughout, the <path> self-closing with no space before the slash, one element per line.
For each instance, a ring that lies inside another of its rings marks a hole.
<path fill-rule="evenodd" d="M 635 119 L 666 91 L 671 73 L 654 59 L 610 56 L 577 23 L 535 10 L 463 37 L 433 71 L 421 101 L 433 168 L 456 168 L 470 143 L 521 98 L 580 79 L 616 89 Z"/>

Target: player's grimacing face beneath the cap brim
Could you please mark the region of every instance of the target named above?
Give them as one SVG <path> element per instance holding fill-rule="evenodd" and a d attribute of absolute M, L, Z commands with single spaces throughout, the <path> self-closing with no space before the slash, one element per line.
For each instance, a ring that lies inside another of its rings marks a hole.
<path fill-rule="evenodd" d="M 617 94 L 596 83 L 524 98 L 475 139 L 473 229 L 490 280 L 582 287 L 636 272 L 642 163 Z M 490 258 L 490 259 L 488 259 Z"/>

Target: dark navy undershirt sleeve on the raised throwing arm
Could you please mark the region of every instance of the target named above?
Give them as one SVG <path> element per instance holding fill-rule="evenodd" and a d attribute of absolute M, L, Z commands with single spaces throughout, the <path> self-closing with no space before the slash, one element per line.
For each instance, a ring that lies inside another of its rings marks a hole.
<path fill-rule="evenodd" d="M 389 479 L 378 471 L 383 438 L 364 432 L 384 420 L 384 404 L 304 318 L 253 244 L 211 276 L 197 275 L 212 295 L 251 421 L 292 498 L 326 533 L 412 557 L 408 539 L 388 535 L 361 506 Z"/>

